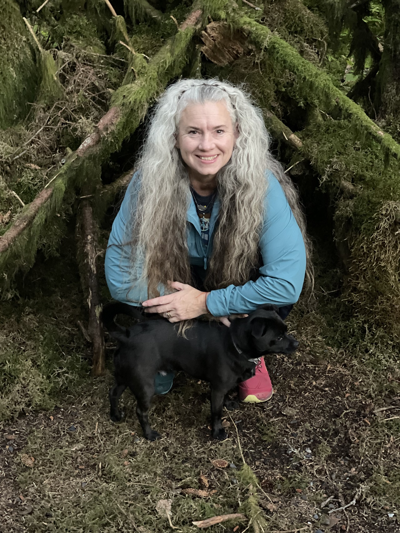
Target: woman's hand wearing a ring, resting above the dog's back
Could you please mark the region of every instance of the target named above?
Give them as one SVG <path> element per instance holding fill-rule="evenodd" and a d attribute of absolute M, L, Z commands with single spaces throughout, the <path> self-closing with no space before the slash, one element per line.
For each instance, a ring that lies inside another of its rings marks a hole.
<path fill-rule="evenodd" d="M 146 313 L 158 313 L 170 322 L 179 322 L 209 312 L 205 301 L 210 293 L 202 292 L 178 281 L 171 281 L 169 285 L 177 292 L 143 302 Z"/>

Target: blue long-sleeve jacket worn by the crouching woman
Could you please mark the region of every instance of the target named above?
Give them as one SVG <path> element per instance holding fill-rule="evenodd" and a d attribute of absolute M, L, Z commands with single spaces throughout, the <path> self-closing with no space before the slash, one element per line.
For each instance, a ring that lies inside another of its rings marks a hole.
<path fill-rule="evenodd" d="M 248 313 L 263 304 L 277 306 L 297 302 L 306 270 L 306 250 L 301 231 L 287 203 L 281 185 L 272 173 L 267 173 L 265 219 L 260 233 L 263 265 L 257 281 L 242 286 L 229 285 L 212 290 L 207 296 L 207 308 L 215 317 Z M 113 223 L 106 252 L 106 279 L 111 296 L 120 302 L 138 305 L 147 300 L 147 285 L 139 282 L 142 263 L 131 262 L 132 229 L 130 220 L 135 210 L 140 187 L 135 173 L 125 193 L 121 208 Z M 190 195 L 191 196 L 191 195 Z M 207 268 L 212 253 L 212 233 L 218 218 L 218 197 L 210 219 L 210 241 L 206 247 L 201 238 L 200 222 L 194 200 L 190 198 L 187 212 L 188 252 L 190 264 Z M 161 290 L 163 294 L 163 290 Z"/>

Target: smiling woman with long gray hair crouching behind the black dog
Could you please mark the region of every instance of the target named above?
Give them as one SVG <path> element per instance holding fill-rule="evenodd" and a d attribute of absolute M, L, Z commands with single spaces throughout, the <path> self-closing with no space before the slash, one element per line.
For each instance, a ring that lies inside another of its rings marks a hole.
<path fill-rule="evenodd" d="M 297 192 L 249 96 L 217 79 L 167 88 L 111 231 L 111 295 L 171 322 L 210 313 L 229 326 L 229 316 L 268 303 L 286 318 L 307 250 Z M 157 375 L 156 392 L 168 392 L 172 379 Z M 239 398 L 272 393 L 261 359 Z"/>

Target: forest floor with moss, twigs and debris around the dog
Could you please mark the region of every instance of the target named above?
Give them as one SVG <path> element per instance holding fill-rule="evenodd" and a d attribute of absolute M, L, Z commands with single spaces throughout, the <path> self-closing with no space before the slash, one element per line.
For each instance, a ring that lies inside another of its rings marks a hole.
<path fill-rule="evenodd" d="M 0 311 L 0 531 L 157 533 L 171 529 L 156 511 L 165 499 L 177 531 L 198 531 L 195 520 L 246 509 L 238 444 L 259 480 L 265 533 L 399 530 L 399 378 L 385 357 L 331 346 L 323 315 L 303 303 L 288 320 L 298 352 L 267 358 L 275 393 L 226 412 L 227 440 L 210 440 L 207 384 L 178 374 L 151 410 L 162 439 L 148 442 L 127 391 L 125 420 L 109 419 L 111 344 L 107 374 L 90 377 L 74 257 L 71 239 L 60 257 L 39 259 Z M 201 475 L 209 496 L 183 494 L 202 488 Z"/>

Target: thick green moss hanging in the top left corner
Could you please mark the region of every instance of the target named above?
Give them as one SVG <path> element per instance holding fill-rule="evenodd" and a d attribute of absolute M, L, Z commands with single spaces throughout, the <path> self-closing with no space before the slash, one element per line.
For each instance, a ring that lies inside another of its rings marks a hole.
<path fill-rule="evenodd" d="M 18 4 L 4 0 L 0 19 L 0 128 L 27 114 L 37 83 L 33 50 Z"/>

